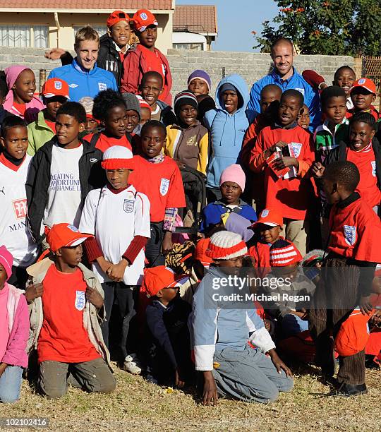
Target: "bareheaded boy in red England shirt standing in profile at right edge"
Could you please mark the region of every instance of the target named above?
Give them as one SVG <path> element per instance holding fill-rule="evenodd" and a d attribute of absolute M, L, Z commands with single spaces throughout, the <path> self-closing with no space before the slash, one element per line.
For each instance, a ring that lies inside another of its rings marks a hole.
<path fill-rule="evenodd" d="M 331 337 L 336 337 L 341 323 L 354 309 L 363 315 L 372 313 L 370 292 L 376 264 L 381 263 L 381 222 L 355 191 L 359 181 L 356 165 L 348 161 L 329 164 L 322 177 L 325 196 L 333 205 L 329 216 L 331 232 L 309 317 L 318 364 L 327 382 L 337 387 L 337 394 L 345 396 L 367 392 L 365 352 L 362 349 L 353 355 L 339 356 L 339 372 L 334 381 Z"/>

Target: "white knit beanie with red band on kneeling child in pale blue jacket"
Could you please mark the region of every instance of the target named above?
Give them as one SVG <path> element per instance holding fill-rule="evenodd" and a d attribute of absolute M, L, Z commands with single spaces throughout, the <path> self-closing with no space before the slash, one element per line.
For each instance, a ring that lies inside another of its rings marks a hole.
<path fill-rule="evenodd" d="M 230 260 L 243 256 L 248 248 L 239 234 L 229 231 L 219 231 L 210 237 L 206 254 L 214 260 Z"/>

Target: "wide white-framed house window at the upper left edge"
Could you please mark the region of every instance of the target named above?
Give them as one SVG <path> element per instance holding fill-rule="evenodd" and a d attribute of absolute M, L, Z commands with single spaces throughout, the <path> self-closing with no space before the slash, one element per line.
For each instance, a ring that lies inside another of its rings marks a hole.
<path fill-rule="evenodd" d="M 48 48 L 47 25 L 0 25 L 0 46 Z"/>

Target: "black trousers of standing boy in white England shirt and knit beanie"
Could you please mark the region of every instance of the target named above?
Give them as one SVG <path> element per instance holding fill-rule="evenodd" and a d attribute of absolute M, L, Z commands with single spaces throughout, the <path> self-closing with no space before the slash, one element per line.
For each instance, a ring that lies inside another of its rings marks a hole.
<path fill-rule="evenodd" d="M 126 285 L 123 284 L 123 282 L 104 282 L 102 288 L 104 291 L 104 308 L 106 310 L 106 320 L 101 325 L 104 343 L 107 345 L 107 348 L 109 348 L 111 339 L 109 323 L 110 319 L 114 318 L 111 317 L 111 311 L 115 304 L 116 308 L 114 311 L 119 312 L 119 316 L 116 317 L 118 319 L 115 321 L 119 323 L 119 325 L 115 326 L 112 330 L 116 332 L 116 334 L 113 335 L 113 339 L 118 341 L 117 344 L 122 356 L 121 361 L 123 361 L 128 353 L 133 352 L 134 348 L 133 346 L 127 347 L 127 339 L 130 332 L 131 320 L 136 315 L 134 306 L 138 287 L 135 285 Z M 130 339 L 133 340 L 133 337 L 131 336 Z"/>

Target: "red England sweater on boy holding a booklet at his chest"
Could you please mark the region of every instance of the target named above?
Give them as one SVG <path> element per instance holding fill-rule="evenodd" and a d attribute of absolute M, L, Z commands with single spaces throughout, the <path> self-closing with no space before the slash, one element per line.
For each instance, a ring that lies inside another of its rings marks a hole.
<path fill-rule="evenodd" d="M 292 179 L 279 179 L 265 162 L 265 150 L 279 141 L 301 145 L 296 158 L 299 163 L 297 176 Z M 313 186 L 310 179 L 304 177 L 314 159 L 312 138 L 301 126 L 289 129 L 267 126 L 260 131 L 251 151 L 250 169 L 265 172 L 266 208 L 277 208 L 287 219 L 306 218 L 306 212 L 313 199 Z"/>

